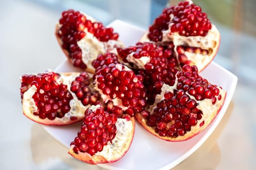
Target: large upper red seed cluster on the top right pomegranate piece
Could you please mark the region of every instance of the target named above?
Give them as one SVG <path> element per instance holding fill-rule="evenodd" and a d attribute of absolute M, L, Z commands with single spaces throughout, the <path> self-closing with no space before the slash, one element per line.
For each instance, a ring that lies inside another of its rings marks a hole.
<path fill-rule="evenodd" d="M 154 20 L 149 27 L 149 39 L 155 42 L 161 41 L 162 31 L 168 30 L 170 24 L 172 24 L 171 33 L 177 32 L 183 36 L 206 36 L 212 28 L 211 21 L 201 11 L 200 6 L 182 1 L 165 8 L 163 13 Z"/>

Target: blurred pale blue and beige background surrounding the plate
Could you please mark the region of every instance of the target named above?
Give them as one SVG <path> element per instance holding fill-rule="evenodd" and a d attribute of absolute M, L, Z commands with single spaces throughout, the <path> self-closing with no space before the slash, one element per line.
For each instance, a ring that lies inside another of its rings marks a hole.
<path fill-rule="evenodd" d="M 103 22 L 147 29 L 179 0 L 0 0 L 0 169 L 101 170 L 74 160 L 41 126 L 22 115 L 19 77 L 56 68 L 65 56 L 54 36 L 73 8 Z M 194 0 L 221 33 L 214 61 L 238 77 L 231 105 L 205 144 L 175 170 L 256 169 L 256 1 Z M 220 75 L 221 76 L 221 75 Z"/>

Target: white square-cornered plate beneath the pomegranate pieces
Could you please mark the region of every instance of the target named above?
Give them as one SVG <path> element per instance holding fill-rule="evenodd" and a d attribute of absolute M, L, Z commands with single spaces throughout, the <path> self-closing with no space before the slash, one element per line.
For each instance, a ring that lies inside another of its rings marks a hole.
<path fill-rule="evenodd" d="M 129 25 L 121 20 L 115 20 L 109 26 L 119 33 L 120 39 L 126 46 L 134 45 L 144 33 L 143 30 Z M 79 71 L 69 62 L 64 61 L 57 72 Z M 134 139 L 127 154 L 115 163 L 99 164 L 99 166 L 111 170 L 169 170 L 186 159 L 212 134 L 232 99 L 237 83 L 237 77 L 212 62 L 202 73 L 212 84 L 220 85 L 227 91 L 226 101 L 213 123 L 202 133 L 184 142 L 167 142 L 161 140 L 136 124 Z M 56 140 L 69 148 L 69 144 L 77 135 L 81 123 L 73 125 L 54 127 L 43 126 L 43 128 Z"/>

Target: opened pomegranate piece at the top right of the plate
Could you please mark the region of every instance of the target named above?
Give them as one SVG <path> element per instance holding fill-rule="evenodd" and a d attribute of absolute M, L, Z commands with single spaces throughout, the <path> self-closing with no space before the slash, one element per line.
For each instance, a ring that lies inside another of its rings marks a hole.
<path fill-rule="evenodd" d="M 220 34 L 200 6 L 185 0 L 165 8 L 141 38 L 144 41 L 164 46 L 173 43 L 180 68 L 196 65 L 200 72 L 218 51 Z"/>

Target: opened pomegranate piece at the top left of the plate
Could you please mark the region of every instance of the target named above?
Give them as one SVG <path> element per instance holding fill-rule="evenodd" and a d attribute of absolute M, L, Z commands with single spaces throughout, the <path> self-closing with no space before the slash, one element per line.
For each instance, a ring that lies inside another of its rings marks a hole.
<path fill-rule="evenodd" d="M 92 60 L 98 54 L 115 51 L 123 47 L 113 28 L 106 28 L 101 22 L 82 12 L 67 10 L 56 26 L 56 37 L 65 55 L 75 67 L 94 73 Z"/>

